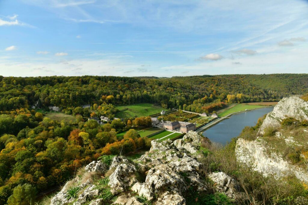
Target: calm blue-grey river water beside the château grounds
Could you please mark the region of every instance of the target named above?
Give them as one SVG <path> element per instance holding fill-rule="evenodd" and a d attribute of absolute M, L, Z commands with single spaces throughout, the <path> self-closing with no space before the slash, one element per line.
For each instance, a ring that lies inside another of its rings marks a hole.
<path fill-rule="evenodd" d="M 212 142 L 225 145 L 231 141 L 231 138 L 239 136 L 243 128 L 256 125 L 261 116 L 273 109 L 274 107 L 262 108 L 232 115 L 229 119 L 223 120 L 203 132 L 203 136 L 208 137 Z"/>

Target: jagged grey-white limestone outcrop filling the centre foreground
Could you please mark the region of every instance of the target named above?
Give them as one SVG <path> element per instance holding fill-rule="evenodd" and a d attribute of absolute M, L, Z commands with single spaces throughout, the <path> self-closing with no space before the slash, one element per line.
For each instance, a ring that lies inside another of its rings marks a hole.
<path fill-rule="evenodd" d="M 110 166 L 93 161 L 85 168 L 86 174 L 93 173 L 93 180 L 82 183 L 83 177 L 77 176 L 53 197 L 51 205 L 107 204 L 105 198 L 112 195 L 117 196 L 113 204 L 141 205 L 152 200 L 156 205 L 184 205 L 189 191 L 208 189 L 206 173 L 196 158 L 203 140 L 197 132 L 189 132 L 176 142 L 153 140 L 150 151 L 134 162 L 123 156 L 115 156 Z M 226 180 L 217 190 L 233 197 L 233 181 Z M 78 187 L 74 199 L 68 193 L 71 187 Z"/>

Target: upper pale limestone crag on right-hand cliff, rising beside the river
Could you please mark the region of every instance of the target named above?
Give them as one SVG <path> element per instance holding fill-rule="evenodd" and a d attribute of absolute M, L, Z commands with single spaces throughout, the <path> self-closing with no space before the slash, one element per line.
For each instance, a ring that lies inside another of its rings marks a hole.
<path fill-rule="evenodd" d="M 263 135 L 267 127 L 279 127 L 286 116 L 297 120 L 308 120 L 308 102 L 299 97 L 284 97 L 275 105 L 274 110 L 267 114 L 258 135 Z"/>

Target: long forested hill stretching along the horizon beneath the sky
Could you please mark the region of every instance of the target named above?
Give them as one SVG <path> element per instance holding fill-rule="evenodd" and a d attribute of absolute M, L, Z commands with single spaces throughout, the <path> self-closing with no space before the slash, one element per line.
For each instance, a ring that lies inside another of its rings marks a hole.
<path fill-rule="evenodd" d="M 165 108 L 232 101 L 278 101 L 282 97 L 308 92 L 308 74 L 217 75 L 191 77 L 2 77 L 0 110 L 29 107 L 39 99 L 43 106 L 61 108 L 83 104 L 160 103 Z M 229 95 L 229 97 L 228 97 Z"/>

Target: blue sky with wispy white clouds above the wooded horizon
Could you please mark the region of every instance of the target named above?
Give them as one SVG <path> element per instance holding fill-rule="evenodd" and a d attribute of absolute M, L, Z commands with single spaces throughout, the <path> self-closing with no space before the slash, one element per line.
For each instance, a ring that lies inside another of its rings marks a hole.
<path fill-rule="evenodd" d="M 307 73 L 308 1 L 0 1 L 0 75 Z"/>

